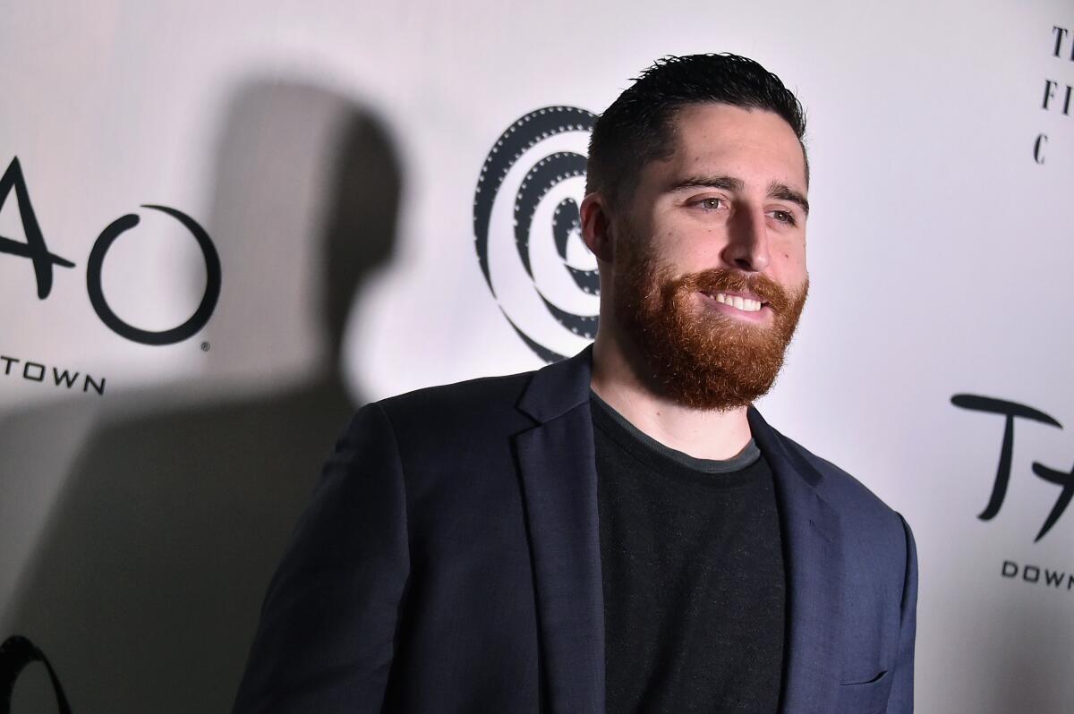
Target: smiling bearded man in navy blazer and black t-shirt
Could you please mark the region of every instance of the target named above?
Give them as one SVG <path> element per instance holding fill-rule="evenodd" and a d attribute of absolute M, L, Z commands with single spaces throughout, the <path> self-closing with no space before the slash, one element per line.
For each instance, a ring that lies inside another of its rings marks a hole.
<path fill-rule="evenodd" d="M 751 406 L 806 302 L 803 133 L 741 57 L 620 96 L 594 347 L 358 412 L 236 712 L 912 711 L 910 528 Z"/>

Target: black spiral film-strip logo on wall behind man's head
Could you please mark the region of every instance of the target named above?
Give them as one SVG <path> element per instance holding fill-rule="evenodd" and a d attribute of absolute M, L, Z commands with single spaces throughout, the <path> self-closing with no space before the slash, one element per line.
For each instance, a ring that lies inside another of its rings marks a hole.
<path fill-rule="evenodd" d="M 481 273 L 511 327 L 546 362 L 563 359 L 562 348 L 554 346 L 569 347 L 571 341 L 577 345 L 596 336 L 599 280 L 595 260 L 581 242 L 578 216 L 585 155 L 566 141 L 584 146 L 595 119 L 594 114 L 574 106 L 546 106 L 520 117 L 496 140 L 474 192 L 475 248 Z M 560 146 L 554 147 L 556 143 Z M 527 165 L 522 175 L 521 169 Z M 566 192 L 562 185 L 567 181 L 576 189 L 572 195 L 562 195 Z M 510 195 L 508 187 L 513 189 L 510 218 L 503 208 L 496 209 Z M 549 201 L 554 203 L 548 205 Z M 495 246 L 509 245 L 512 239 L 523 271 L 519 279 L 526 282 L 528 297 L 536 293 L 539 301 L 520 295 L 518 280 L 509 275 L 494 280 L 494 266 L 506 264 L 507 259 L 500 253 L 500 260 L 494 260 Z M 548 266 L 546 260 L 542 272 L 535 263 L 553 256 L 548 248 L 554 249 L 555 265 Z M 592 266 L 580 265 L 586 259 Z M 548 280 L 541 279 L 542 275 Z M 508 298 L 508 293 L 518 300 Z M 542 306 L 543 314 L 529 308 L 528 303 Z M 562 336 L 549 330 L 555 324 L 564 331 Z"/>

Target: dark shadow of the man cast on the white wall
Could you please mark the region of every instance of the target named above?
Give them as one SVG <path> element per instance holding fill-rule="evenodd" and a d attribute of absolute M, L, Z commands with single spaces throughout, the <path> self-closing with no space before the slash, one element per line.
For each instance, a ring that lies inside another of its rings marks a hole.
<path fill-rule="evenodd" d="M 4 492 L 41 479 L 57 494 L 0 640 L 40 647 L 76 714 L 230 709 L 268 579 L 355 406 L 340 377 L 344 325 L 360 283 L 390 257 L 401 184 L 383 128 L 326 90 L 255 83 L 232 102 L 217 154 L 206 228 L 226 291 L 211 329 L 281 339 L 257 295 L 316 251 L 325 359 L 305 382 L 252 397 L 175 406 L 179 390 L 144 390 L 88 416 L 72 403 L 0 423 Z M 296 222 L 303 210 L 313 220 Z M 271 267 L 251 267 L 251 254 Z M 49 461 L 42 435 L 69 423 L 85 426 L 82 451 L 62 470 L 28 469 L 63 462 Z M 56 711 L 43 672 L 19 679 L 14 714 Z"/>

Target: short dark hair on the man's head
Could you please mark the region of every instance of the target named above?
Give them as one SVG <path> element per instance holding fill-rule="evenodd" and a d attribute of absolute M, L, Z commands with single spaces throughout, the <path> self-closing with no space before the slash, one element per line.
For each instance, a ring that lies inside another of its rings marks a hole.
<path fill-rule="evenodd" d="M 806 135 L 801 103 L 754 60 L 727 53 L 669 55 L 644 70 L 597 117 L 590 136 L 585 192 L 599 191 L 613 206 L 621 205 L 633 194 L 647 163 L 671 156 L 672 122 L 679 110 L 709 102 L 773 112 L 790 125 L 799 143 Z"/>

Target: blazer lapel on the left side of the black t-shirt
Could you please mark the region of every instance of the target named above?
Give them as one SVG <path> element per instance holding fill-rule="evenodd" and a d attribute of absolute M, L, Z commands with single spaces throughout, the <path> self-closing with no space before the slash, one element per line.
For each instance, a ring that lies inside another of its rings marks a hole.
<path fill-rule="evenodd" d="M 590 349 L 536 373 L 519 408 L 538 425 L 514 440 L 534 564 L 542 711 L 555 713 L 605 710 L 590 373 Z"/>

